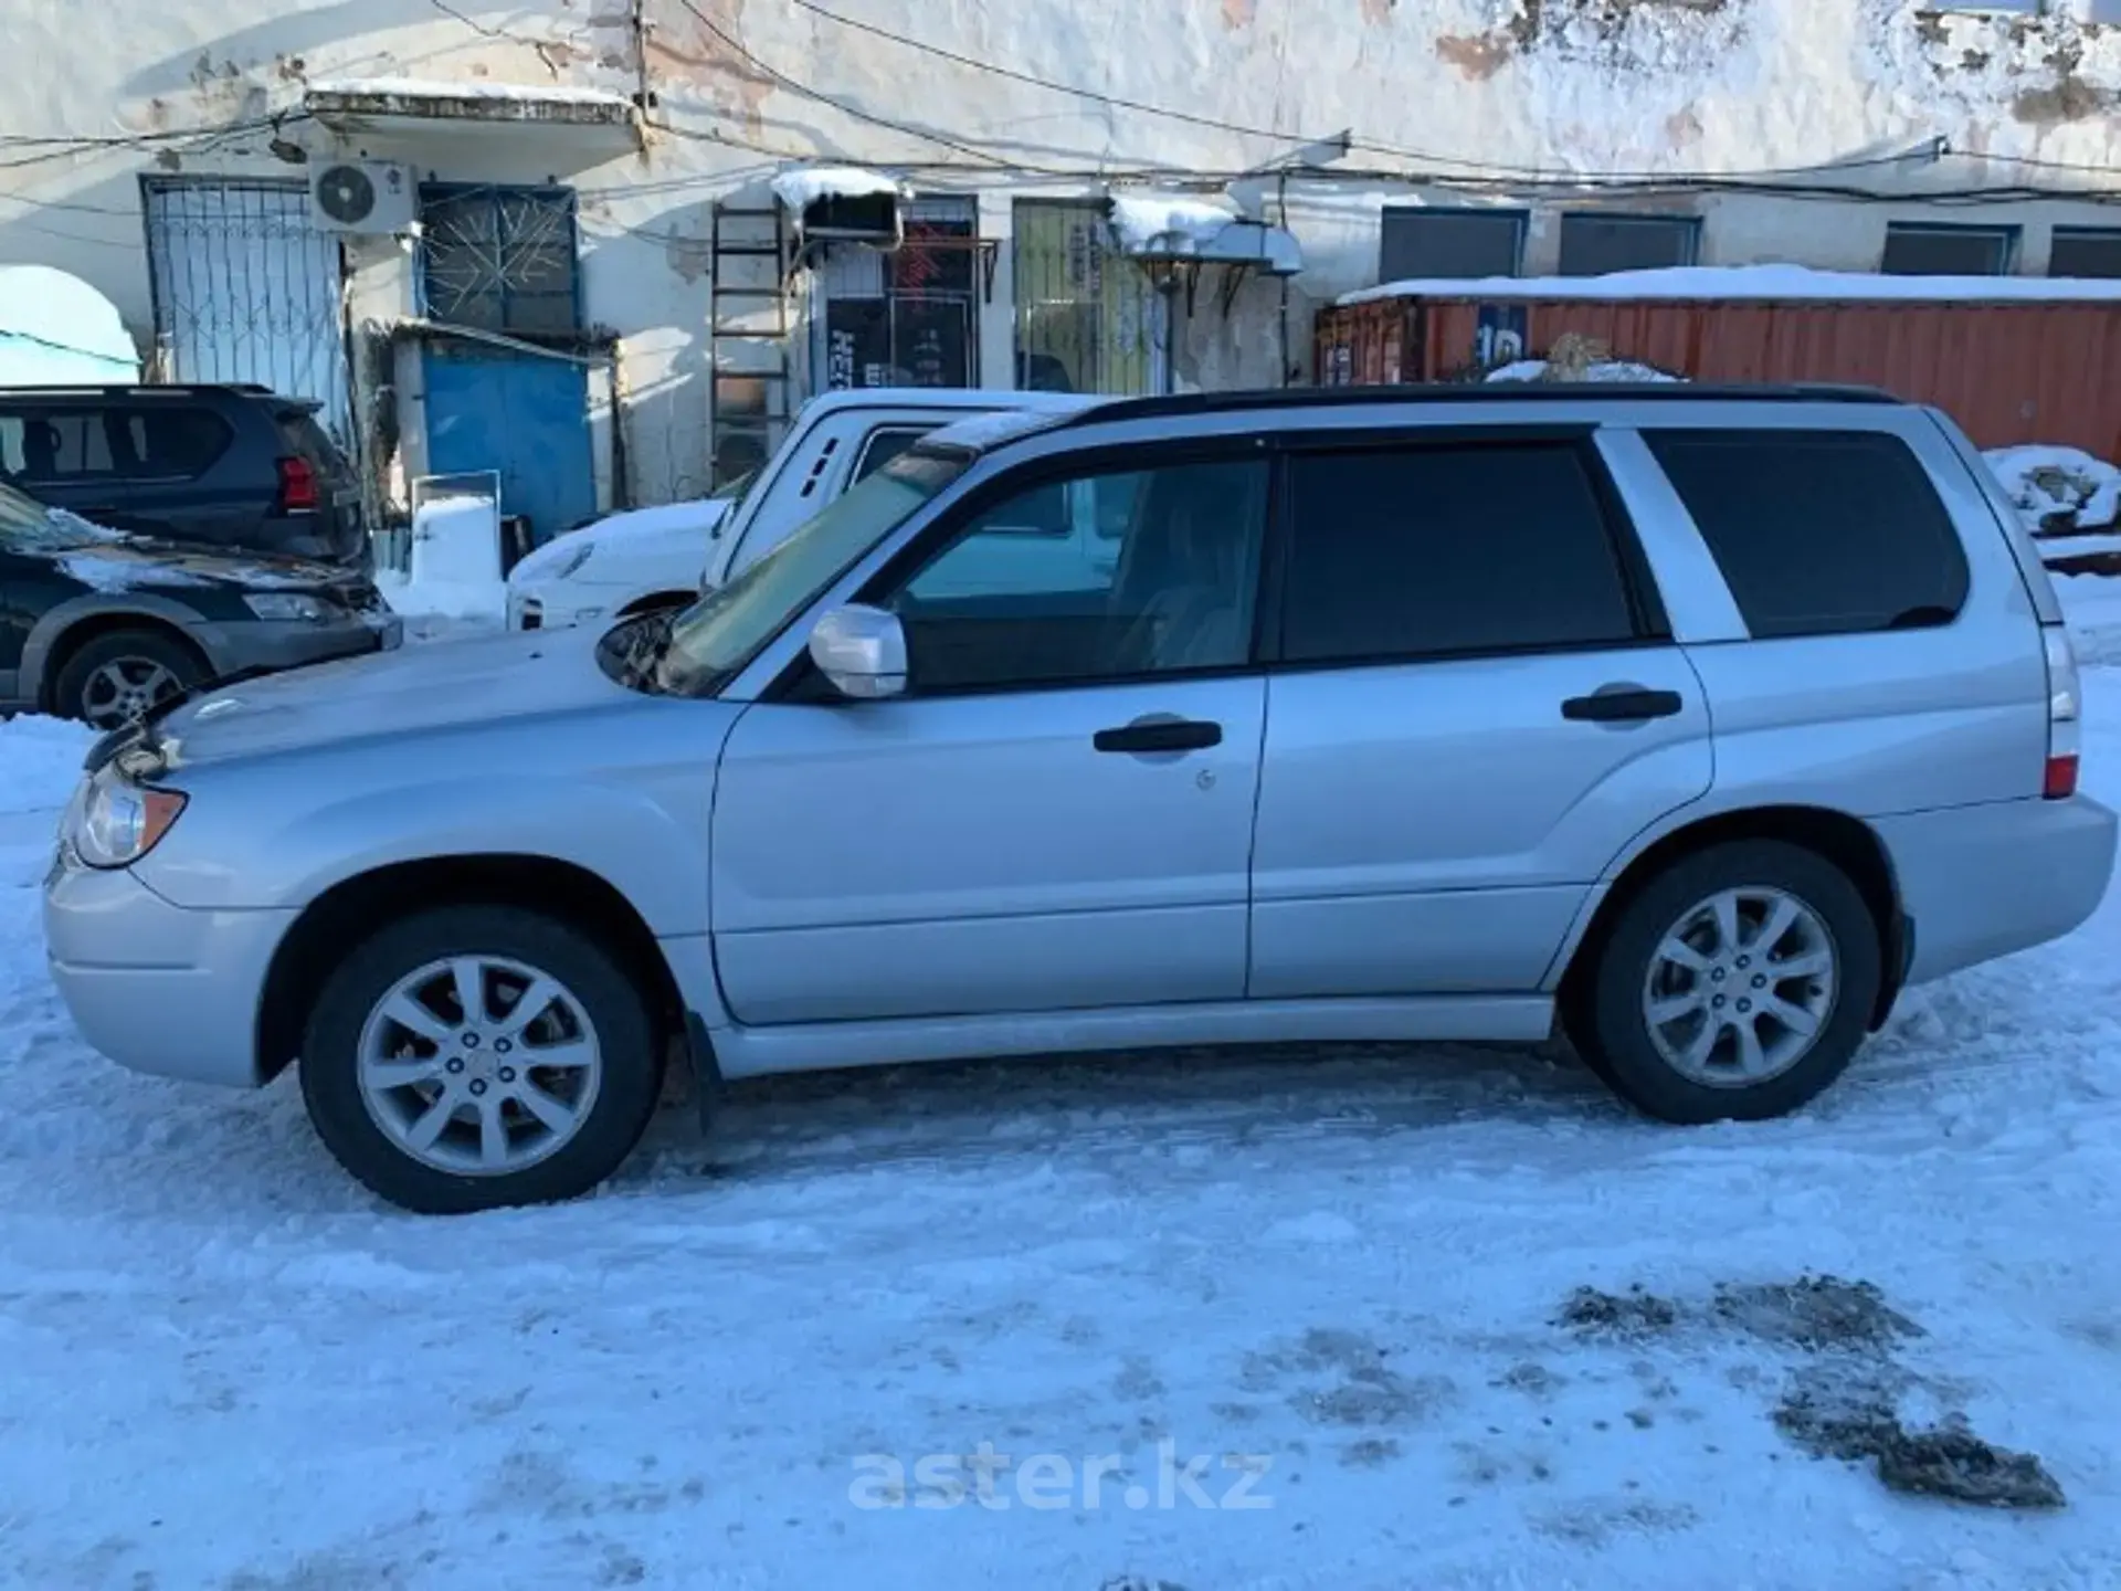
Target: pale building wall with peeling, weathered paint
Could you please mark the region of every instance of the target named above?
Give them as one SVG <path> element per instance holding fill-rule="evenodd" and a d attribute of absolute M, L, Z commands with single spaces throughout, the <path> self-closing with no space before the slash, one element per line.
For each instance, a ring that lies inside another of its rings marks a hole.
<path fill-rule="evenodd" d="M 1525 269 L 1553 269 L 1559 208 L 1589 199 L 1540 189 L 1531 174 L 1824 168 L 1820 180 L 1892 199 L 1599 199 L 1699 214 L 1710 263 L 1866 269 L 1890 218 L 1987 218 L 2021 227 L 2021 269 L 2043 269 L 2053 225 L 2115 214 L 2091 195 L 1949 212 L 1924 197 L 2113 187 L 2121 28 L 2062 17 L 1932 15 L 1909 0 L 821 4 L 844 21 L 789 0 L 452 0 L 458 17 L 431 0 L 11 0 L 0 47 L 38 68 L 17 74 L 0 112 L 0 261 L 85 276 L 144 335 L 142 174 L 301 180 L 286 157 L 365 151 L 454 182 L 573 185 L 588 318 L 624 333 L 626 486 L 660 501 L 706 486 L 713 204 L 761 202 L 764 178 L 804 155 L 978 195 L 982 233 L 1001 246 L 980 312 L 980 371 L 995 384 L 1014 373 L 1016 199 L 1094 195 L 1145 168 L 1167 182 L 1194 174 L 1213 191 L 1343 127 L 1357 146 L 1336 176 L 1294 180 L 1285 193 L 1307 274 L 1287 295 L 1247 284 L 1228 316 L 1213 282 L 1203 284 L 1173 331 L 1181 384 L 1277 382 L 1290 365 L 1302 369 L 1311 308 L 1377 280 L 1385 204 L 1529 208 Z M 649 144 L 560 129 L 333 136 L 301 119 L 308 85 L 378 76 L 645 91 Z M 1898 159 L 1924 140 L 1956 153 Z M 1444 178 L 1491 185 L 1470 193 Z M 1277 185 L 1264 191 L 1279 202 Z M 403 248 L 358 242 L 348 257 L 356 329 L 416 310 Z M 802 346 L 797 337 L 797 361 Z M 384 365 L 356 350 L 361 397 L 392 388 L 401 418 L 414 420 L 397 467 L 418 467 L 416 378 L 399 361 L 397 380 L 380 380 Z"/>

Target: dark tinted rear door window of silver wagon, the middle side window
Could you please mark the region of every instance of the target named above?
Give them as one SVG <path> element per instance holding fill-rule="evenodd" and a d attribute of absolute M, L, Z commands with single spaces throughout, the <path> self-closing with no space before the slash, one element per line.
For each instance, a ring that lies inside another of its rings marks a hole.
<path fill-rule="evenodd" d="M 1290 460 L 1287 662 L 1618 645 L 1627 581 L 1570 441 Z"/>

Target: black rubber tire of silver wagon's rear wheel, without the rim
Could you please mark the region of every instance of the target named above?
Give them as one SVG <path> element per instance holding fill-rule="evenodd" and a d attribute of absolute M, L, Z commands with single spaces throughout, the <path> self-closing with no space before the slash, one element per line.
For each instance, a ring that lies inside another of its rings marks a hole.
<path fill-rule="evenodd" d="M 1780 889 L 1826 927 L 1837 961 L 1833 1010 L 1788 1071 L 1756 1084 L 1695 1082 L 1659 1052 L 1644 1012 L 1652 957 L 1699 902 L 1726 889 Z M 1862 891 L 1816 851 L 1782 840 L 1737 840 L 1682 857 L 1620 908 L 1578 989 L 1572 1039 L 1584 1063 L 1646 1116 L 1682 1126 L 1786 1116 L 1828 1088 L 1871 1029 L 1883 978 L 1877 921 Z"/>

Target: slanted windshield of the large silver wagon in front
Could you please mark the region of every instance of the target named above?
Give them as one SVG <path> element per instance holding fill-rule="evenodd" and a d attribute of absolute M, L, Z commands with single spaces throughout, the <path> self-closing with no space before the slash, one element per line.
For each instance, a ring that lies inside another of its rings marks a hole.
<path fill-rule="evenodd" d="M 725 683 L 797 611 L 825 594 L 971 462 L 961 452 L 899 454 L 742 575 L 708 592 L 670 624 L 653 683 L 670 696 L 704 696 Z"/>

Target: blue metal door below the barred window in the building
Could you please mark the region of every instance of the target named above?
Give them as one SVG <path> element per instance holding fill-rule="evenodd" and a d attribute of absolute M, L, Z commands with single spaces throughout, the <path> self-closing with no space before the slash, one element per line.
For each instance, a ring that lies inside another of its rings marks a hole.
<path fill-rule="evenodd" d="M 534 541 L 596 518 L 588 371 L 566 359 L 428 344 L 426 458 L 433 475 L 501 471 L 501 511 L 526 515 Z"/>

